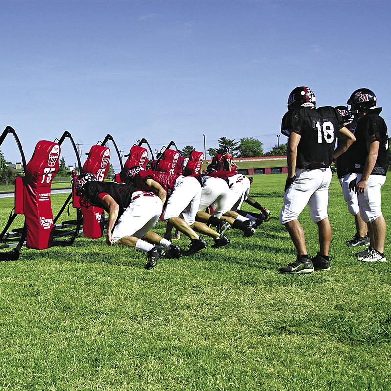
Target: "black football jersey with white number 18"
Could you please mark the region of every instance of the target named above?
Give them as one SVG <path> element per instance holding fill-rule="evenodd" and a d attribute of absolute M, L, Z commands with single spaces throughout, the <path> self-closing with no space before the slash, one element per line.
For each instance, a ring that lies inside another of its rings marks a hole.
<path fill-rule="evenodd" d="M 301 136 L 296 168 L 329 167 L 333 161 L 337 131 L 343 126 L 341 116 L 332 106 L 289 110 L 282 118 L 281 133 L 289 136 L 295 132 Z"/>

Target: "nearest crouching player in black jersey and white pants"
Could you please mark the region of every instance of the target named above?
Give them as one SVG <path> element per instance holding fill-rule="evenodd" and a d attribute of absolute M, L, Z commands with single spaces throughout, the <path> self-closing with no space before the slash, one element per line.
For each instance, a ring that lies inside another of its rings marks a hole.
<path fill-rule="evenodd" d="M 166 255 L 179 258 L 181 248 L 150 231 L 162 212 L 161 199 L 130 185 L 99 182 L 94 174 L 82 173 L 75 182 L 76 195 L 85 206 L 103 208 L 109 214 L 106 243 L 135 247 L 147 253 L 146 269 Z"/>

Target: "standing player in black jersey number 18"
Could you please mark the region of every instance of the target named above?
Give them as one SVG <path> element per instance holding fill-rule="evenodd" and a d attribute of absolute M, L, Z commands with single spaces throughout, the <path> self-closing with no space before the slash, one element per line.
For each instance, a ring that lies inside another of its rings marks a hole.
<path fill-rule="evenodd" d="M 330 269 L 331 226 L 327 211 L 332 178 L 330 164 L 348 149 L 355 137 L 343 126 L 336 109 L 331 106 L 315 109 L 315 103 L 315 94 L 310 88 L 297 87 L 289 95 L 288 112 L 282 118 L 281 132 L 289 139 L 286 152 L 288 177 L 280 222 L 287 228 L 296 247 L 297 259 L 280 269 L 281 273 Z M 334 151 L 336 137 L 340 143 Z M 312 260 L 308 256 L 304 231 L 298 220 L 307 204 L 319 232 L 320 249 Z"/>

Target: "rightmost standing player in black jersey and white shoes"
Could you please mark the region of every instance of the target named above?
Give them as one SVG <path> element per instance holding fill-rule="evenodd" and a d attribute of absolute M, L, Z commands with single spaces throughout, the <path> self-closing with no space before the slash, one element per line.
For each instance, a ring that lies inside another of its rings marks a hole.
<path fill-rule="evenodd" d="M 356 253 L 364 262 L 386 261 L 384 242 L 386 221 L 381 212 L 381 187 L 386 180 L 389 161 L 389 139 L 387 126 L 376 108 L 377 98 L 368 88 L 360 88 L 352 93 L 347 102 L 358 117 L 353 144 L 353 170 L 357 179 L 350 188 L 358 194 L 360 215 L 368 225 L 370 246 Z"/>

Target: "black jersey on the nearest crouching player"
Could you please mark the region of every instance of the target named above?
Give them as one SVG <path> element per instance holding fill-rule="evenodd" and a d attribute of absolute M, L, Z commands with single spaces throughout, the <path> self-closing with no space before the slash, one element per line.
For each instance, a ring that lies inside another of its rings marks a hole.
<path fill-rule="evenodd" d="M 105 209 L 101 200 L 98 198 L 100 193 L 109 194 L 119 205 L 118 217 L 129 206 L 131 196 L 138 189 L 124 183 L 116 182 L 87 182 L 84 185 L 84 197 L 93 206 L 99 206 Z M 108 212 L 108 211 L 106 211 Z"/>

